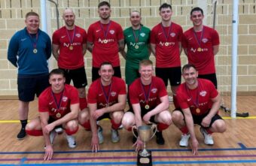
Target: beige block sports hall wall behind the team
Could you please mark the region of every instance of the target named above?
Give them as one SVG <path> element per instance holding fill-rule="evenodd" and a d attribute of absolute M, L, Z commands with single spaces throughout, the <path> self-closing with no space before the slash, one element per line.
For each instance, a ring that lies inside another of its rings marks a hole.
<path fill-rule="evenodd" d="M 99 0 L 53 0 L 58 3 L 59 26 L 63 26 L 62 11 L 72 8 L 75 11 L 77 26 L 86 29 L 91 23 L 99 20 L 97 5 Z M 192 26 L 190 10 L 198 6 L 200 0 L 108 0 L 111 3 L 111 19 L 120 23 L 123 29 L 130 26 L 130 11 L 137 10 L 142 13 L 142 23 L 152 28 L 160 23 L 158 8 L 167 2 L 172 5 L 172 21 L 187 30 Z M 47 2 L 47 29 L 48 34 L 57 29 L 56 10 L 53 3 Z M 204 12 L 206 25 L 212 26 L 213 6 L 212 0 L 205 2 Z M 256 94 L 256 8 L 255 0 L 239 0 L 239 44 L 238 44 L 238 85 L 239 94 Z M 0 0 L 0 98 L 17 98 L 17 68 L 7 60 L 8 42 L 17 30 L 23 29 L 25 15 L 35 11 L 39 15 L 39 0 Z M 232 43 L 232 14 L 233 0 L 218 0 L 216 8 L 215 29 L 221 39 L 220 50 L 215 56 L 215 65 L 218 76 L 218 89 L 221 92 L 230 92 L 231 85 L 231 43 Z M 91 81 L 92 56 L 87 51 L 84 56 L 87 80 Z M 154 57 L 151 55 L 151 60 Z M 120 56 L 122 76 L 124 77 L 125 61 Z M 182 65 L 187 58 L 181 55 Z M 50 69 L 56 68 L 53 57 L 49 62 Z"/>

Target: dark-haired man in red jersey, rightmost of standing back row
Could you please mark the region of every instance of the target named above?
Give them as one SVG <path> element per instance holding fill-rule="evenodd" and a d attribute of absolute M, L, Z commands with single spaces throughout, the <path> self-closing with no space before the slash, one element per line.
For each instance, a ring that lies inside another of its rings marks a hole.
<path fill-rule="evenodd" d="M 194 26 L 184 32 L 182 47 L 188 63 L 196 66 L 198 77 L 211 80 L 217 89 L 214 56 L 218 53 L 220 41 L 215 29 L 203 26 L 203 17 L 201 8 L 191 10 L 190 20 Z"/>

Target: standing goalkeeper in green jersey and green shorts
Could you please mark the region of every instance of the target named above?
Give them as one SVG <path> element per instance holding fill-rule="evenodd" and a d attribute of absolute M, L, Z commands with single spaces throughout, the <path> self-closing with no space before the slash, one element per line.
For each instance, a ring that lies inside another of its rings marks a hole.
<path fill-rule="evenodd" d="M 127 46 L 127 52 L 124 50 L 120 53 L 126 59 L 125 80 L 128 89 L 131 83 L 139 77 L 139 62 L 148 59 L 151 50 L 149 47 L 150 29 L 143 26 L 142 17 L 139 11 L 132 11 L 130 22 L 132 26 L 123 31 L 124 42 Z M 129 92 L 128 92 L 129 93 Z M 130 99 L 128 98 L 130 109 Z"/>

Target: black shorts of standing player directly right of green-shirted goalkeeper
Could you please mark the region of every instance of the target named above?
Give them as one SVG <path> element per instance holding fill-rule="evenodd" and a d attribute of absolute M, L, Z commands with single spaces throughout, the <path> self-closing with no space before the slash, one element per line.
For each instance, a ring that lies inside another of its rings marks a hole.
<path fill-rule="evenodd" d="M 181 67 L 156 68 L 156 76 L 162 78 L 166 86 L 168 86 L 168 80 L 171 86 L 179 86 L 181 84 Z"/>

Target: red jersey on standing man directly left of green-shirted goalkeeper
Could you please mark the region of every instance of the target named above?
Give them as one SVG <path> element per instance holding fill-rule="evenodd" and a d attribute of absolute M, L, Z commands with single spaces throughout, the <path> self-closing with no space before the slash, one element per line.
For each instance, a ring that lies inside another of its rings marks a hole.
<path fill-rule="evenodd" d="M 99 68 L 102 62 L 120 66 L 118 41 L 122 40 L 123 29 L 114 21 L 102 24 L 100 21 L 90 25 L 87 41 L 93 43 L 93 67 Z"/>

